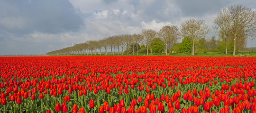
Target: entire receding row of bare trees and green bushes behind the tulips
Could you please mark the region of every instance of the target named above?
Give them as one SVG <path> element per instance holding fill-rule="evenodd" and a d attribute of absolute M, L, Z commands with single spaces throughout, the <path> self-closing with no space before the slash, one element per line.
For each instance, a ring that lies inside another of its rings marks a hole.
<path fill-rule="evenodd" d="M 238 49 L 246 48 L 247 38 L 255 39 L 256 10 L 239 4 L 232 5 L 229 8 L 223 8 L 214 18 L 213 24 L 219 39 L 212 36 L 209 40 L 205 40 L 206 34 L 210 32 L 205 21 L 188 19 L 181 23 L 180 28 L 176 25 L 167 25 L 163 26 L 159 32 L 144 29 L 138 34 L 121 34 L 101 40 L 89 40 L 75 44 L 73 47 L 48 52 L 47 55 L 97 55 L 98 53 L 100 55 L 102 53 L 134 55 L 135 52 L 138 55 L 139 49 L 145 49 L 147 55 L 149 52 L 151 55 L 152 52 L 165 52 L 165 55 L 170 55 L 171 51 L 191 52 L 192 55 L 195 52 L 226 51 L 227 54 L 228 51 L 233 50 L 233 56 L 235 56 Z M 182 37 L 182 42 L 177 44 Z M 140 45 L 143 48 L 140 48 Z M 109 53 L 107 49 L 110 49 Z M 116 49 L 118 52 L 115 52 Z"/>

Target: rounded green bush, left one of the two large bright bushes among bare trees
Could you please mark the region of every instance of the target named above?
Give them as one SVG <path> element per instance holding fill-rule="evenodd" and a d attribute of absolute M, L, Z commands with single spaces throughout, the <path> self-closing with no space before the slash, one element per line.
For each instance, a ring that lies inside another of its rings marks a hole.
<path fill-rule="evenodd" d="M 152 52 L 153 53 L 161 53 L 165 50 L 165 42 L 160 38 L 155 38 L 152 40 Z"/>

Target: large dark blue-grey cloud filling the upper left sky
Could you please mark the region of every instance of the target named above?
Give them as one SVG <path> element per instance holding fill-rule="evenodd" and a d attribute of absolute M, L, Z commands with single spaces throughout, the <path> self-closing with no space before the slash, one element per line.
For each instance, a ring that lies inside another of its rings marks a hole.
<path fill-rule="evenodd" d="M 82 25 L 68 0 L 0 0 L 0 30 L 15 35 L 74 32 Z"/>

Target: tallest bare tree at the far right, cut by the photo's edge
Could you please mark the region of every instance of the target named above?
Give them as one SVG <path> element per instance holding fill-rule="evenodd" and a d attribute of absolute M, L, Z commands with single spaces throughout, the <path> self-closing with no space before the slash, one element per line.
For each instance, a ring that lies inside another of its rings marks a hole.
<path fill-rule="evenodd" d="M 236 41 L 241 31 L 244 31 L 248 37 L 255 39 L 256 35 L 256 10 L 246 8 L 242 5 L 234 5 L 229 8 L 229 15 L 232 22 L 231 34 L 234 36 L 233 56 L 236 55 Z"/>

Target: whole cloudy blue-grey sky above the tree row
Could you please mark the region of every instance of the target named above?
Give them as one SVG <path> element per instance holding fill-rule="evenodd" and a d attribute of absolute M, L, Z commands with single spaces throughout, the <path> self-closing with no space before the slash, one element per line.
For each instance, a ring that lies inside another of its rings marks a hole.
<path fill-rule="evenodd" d="M 190 18 L 212 28 L 219 11 L 235 4 L 256 9 L 256 0 L 0 0 L 0 55 L 46 54 Z M 207 37 L 215 35 L 211 31 Z M 256 47 L 256 40 L 247 47 Z"/>

